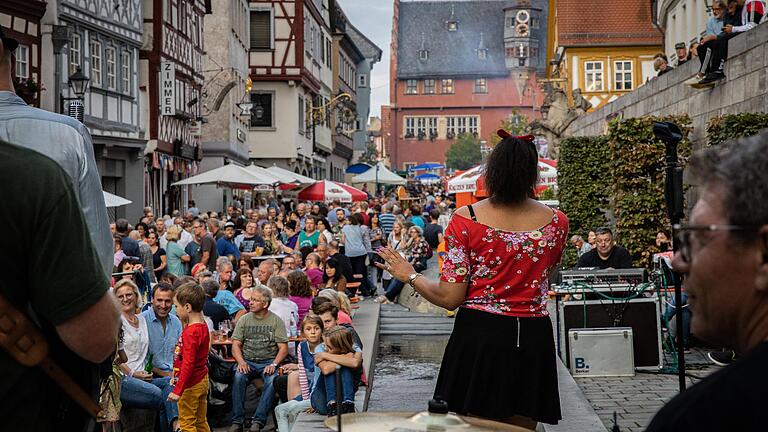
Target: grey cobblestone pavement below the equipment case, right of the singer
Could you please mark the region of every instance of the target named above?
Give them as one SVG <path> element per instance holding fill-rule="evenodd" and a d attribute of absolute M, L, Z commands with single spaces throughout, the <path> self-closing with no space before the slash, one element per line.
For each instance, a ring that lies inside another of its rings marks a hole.
<path fill-rule="evenodd" d="M 686 358 L 692 357 L 687 368 L 690 375 L 705 377 L 718 369 L 707 364 L 704 355 L 704 351 L 698 350 L 686 355 Z M 686 386 L 698 381 L 687 378 Z M 656 411 L 678 390 L 676 374 L 638 372 L 634 377 L 576 378 L 576 383 L 608 430 L 613 427 L 613 413 L 616 412 L 621 432 L 643 431 Z"/>

